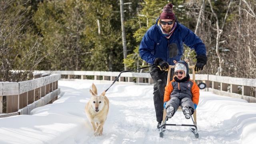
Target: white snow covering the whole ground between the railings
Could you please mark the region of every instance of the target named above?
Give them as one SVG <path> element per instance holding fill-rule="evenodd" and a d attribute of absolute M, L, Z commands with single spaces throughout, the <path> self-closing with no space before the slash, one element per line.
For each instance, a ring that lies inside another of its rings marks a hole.
<path fill-rule="evenodd" d="M 98 93 L 110 84 L 96 84 Z M 164 137 L 156 130 L 153 86 L 113 85 L 106 96 L 110 111 L 103 136 L 94 136 L 84 108 L 91 83 L 59 81 L 65 92 L 53 104 L 32 115 L 0 118 L 0 144 L 255 144 L 256 103 L 200 92 L 197 108 L 199 138 L 188 127 L 167 126 Z M 192 124 L 182 112 L 168 120 Z"/>

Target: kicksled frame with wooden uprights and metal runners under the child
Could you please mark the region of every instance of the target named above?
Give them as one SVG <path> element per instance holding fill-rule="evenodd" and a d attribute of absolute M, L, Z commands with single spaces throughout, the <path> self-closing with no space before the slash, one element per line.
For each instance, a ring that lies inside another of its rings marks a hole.
<path fill-rule="evenodd" d="M 170 74 L 171 74 L 171 68 L 174 68 L 174 66 L 169 66 L 169 70 L 168 70 L 168 76 L 167 76 L 167 84 L 166 86 L 168 86 L 168 84 L 170 83 Z M 194 71 L 194 66 L 188 66 L 188 68 L 192 68 L 192 72 L 193 72 L 193 81 L 196 82 L 196 76 L 195 76 L 195 71 Z M 182 108 L 181 106 L 179 106 L 178 110 L 177 111 L 182 111 Z M 163 127 L 164 126 L 189 126 L 190 127 L 190 131 L 194 133 L 195 137 L 198 138 L 199 137 L 199 134 L 197 132 L 197 127 L 196 127 L 196 110 L 194 110 L 194 114 L 193 114 L 193 117 L 194 119 L 192 118 L 192 116 L 190 116 L 192 121 L 193 121 L 193 124 L 166 124 L 166 121 L 167 121 L 167 117 L 166 117 L 166 109 L 164 109 L 164 115 L 163 115 L 163 122 L 162 122 L 162 125 L 161 125 L 161 128 L 160 128 L 160 134 L 159 136 L 162 138 L 164 136 L 164 133 L 163 133 Z M 192 128 L 194 127 L 194 128 Z"/>

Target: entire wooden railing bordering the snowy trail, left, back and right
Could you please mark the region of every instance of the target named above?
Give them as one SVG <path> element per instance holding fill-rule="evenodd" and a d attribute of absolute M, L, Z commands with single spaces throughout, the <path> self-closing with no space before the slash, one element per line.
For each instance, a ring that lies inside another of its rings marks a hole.
<path fill-rule="evenodd" d="M 30 111 L 34 108 L 51 104 L 60 94 L 58 80 L 112 84 L 119 74 L 120 72 L 100 71 L 34 71 L 35 79 L 33 80 L 0 82 L 0 118 L 30 114 Z M 127 79 L 127 82 L 125 79 Z M 251 91 L 251 87 L 254 89 L 256 87 L 256 79 L 233 78 L 208 74 L 196 74 L 195 79 L 197 83 L 206 83 L 206 91 L 214 92 L 222 96 L 241 98 L 248 102 L 256 102 L 256 98 L 252 97 L 255 96 L 256 93 L 252 93 Z M 122 73 L 115 84 L 150 85 L 153 84 L 153 80 L 149 73 L 128 72 Z M 3 96 L 6 96 L 6 114 L 2 114 Z"/>

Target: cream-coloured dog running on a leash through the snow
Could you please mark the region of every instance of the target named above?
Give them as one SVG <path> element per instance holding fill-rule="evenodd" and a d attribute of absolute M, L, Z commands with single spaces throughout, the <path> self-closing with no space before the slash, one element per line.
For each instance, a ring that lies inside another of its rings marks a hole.
<path fill-rule="evenodd" d="M 94 136 L 102 135 L 103 125 L 108 116 L 109 100 L 105 96 L 106 90 L 98 95 L 96 86 L 92 83 L 92 94 L 90 100 L 85 106 L 85 113 L 90 120 L 94 130 Z"/>

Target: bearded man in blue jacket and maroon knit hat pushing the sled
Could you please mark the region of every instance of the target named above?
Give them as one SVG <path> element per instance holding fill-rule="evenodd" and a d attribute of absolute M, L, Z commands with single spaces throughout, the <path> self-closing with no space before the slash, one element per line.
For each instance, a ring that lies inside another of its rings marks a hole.
<path fill-rule="evenodd" d="M 140 43 L 140 56 L 148 62 L 150 75 L 154 81 L 154 106 L 156 110 L 157 128 L 160 129 L 164 112 L 164 88 L 166 86 L 169 64 L 174 66 L 174 60 L 180 61 L 186 44 L 194 49 L 197 63 L 195 72 L 202 71 L 207 62 L 204 43 L 194 32 L 178 23 L 172 12 L 172 4 L 164 6 L 156 24 L 151 26 Z M 171 80 L 174 71 L 171 70 Z"/>

